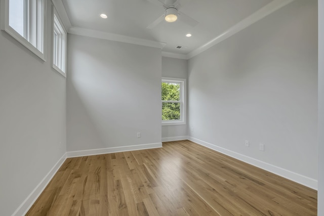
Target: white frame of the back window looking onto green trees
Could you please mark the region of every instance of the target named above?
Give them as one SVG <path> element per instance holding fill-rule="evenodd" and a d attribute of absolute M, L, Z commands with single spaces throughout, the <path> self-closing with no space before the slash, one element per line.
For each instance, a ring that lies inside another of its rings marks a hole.
<path fill-rule="evenodd" d="M 180 83 L 180 101 L 175 102 L 175 103 L 180 103 L 180 119 L 179 120 L 162 120 L 162 125 L 186 124 L 186 90 L 187 90 L 186 79 L 162 77 L 161 82 Z M 174 103 L 174 101 L 161 101 L 161 105 L 163 102 Z"/>

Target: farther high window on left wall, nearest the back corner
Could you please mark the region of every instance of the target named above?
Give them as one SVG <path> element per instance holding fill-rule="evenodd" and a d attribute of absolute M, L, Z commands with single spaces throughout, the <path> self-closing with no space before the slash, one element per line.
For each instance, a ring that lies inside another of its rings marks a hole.
<path fill-rule="evenodd" d="M 63 22 L 56 9 L 53 7 L 52 66 L 64 77 L 66 77 L 66 39 L 67 32 L 64 28 Z"/>

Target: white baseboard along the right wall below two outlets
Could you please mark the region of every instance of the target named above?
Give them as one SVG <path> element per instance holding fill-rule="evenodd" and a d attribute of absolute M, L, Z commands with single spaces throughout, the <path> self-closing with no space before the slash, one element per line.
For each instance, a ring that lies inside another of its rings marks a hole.
<path fill-rule="evenodd" d="M 228 155 L 230 157 L 233 157 L 235 159 L 238 159 L 238 160 L 244 161 L 246 163 L 249 163 L 251 165 L 257 166 L 257 167 L 259 167 L 261 169 L 267 170 L 269 172 L 272 172 L 273 174 L 276 174 L 278 176 L 281 176 L 281 177 L 284 177 L 286 179 L 292 180 L 292 181 L 297 182 L 299 184 L 302 184 L 302 185 L 304 185 L 306 187 L 317 190 L 317 180 L 315 180 L 315 179 L 308 178 L 306 176 L 297 174 L 296 172 L 293 172 L 293 171 L 290 171 L 290 170 L 287 170 L 287 169 L 284 169 L 284 168 L 281 168 L 281 167 L 278 167 L 278 166 L 263 162 L 261 160 L 254 159 L 252 157 L 248 157 L 246 155 L 239 154 L 237 152 L 227 150 L 225 148 L 216 146 L 214 144 L 207 143 L 207 142 L 202 141 L 202 140 L 198 140 L 198 139 L 193 138 L 193 137 L 188 137 L 188 140 L 190 140 L 190 141 L 192 141 L 194 143 L 197 143 L 197 144 L 199 144 L 201 146 L 205 146 L 207 148 L 213 149 L 213 150 L 218 151 L 220 153 L 226 154 L 226 155 Z"/>

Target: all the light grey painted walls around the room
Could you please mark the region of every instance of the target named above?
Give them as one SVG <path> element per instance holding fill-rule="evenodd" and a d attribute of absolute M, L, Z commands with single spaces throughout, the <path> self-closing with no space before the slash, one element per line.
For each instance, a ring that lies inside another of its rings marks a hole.
<path fill-rule="evenodd" d="M 296 1 L 189 61 L 190 136 L 317 178 L 315 6 Z M 66 82 L 51 68 L 51 18 L 47 23 L 47 62 L 0 31 L 1 215 L 11 215 L 66 151 Z M 319 45 L 319 59 L 323 50 Z M 184 125 L 160 132 L 158 49 L 69 35 L 68 51 L 69 151 L 187 135 Z M 186 62 L 163 57 L 163 76 L 187 78 Z M 323 61 L 318 66 L 321 132 Z M 319 143 L 321 155 L 322 133 Z M 318 164 L 322 215 L 323 158 Z"/>

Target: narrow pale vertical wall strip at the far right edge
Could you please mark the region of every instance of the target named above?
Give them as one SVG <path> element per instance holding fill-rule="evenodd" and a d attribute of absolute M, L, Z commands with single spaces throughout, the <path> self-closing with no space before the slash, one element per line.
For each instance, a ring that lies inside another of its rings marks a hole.
<path fill-rule="evenodd" d="M 324 0 L 318 0 L 318 191 L 317 215 L 324 215 Z"/>

